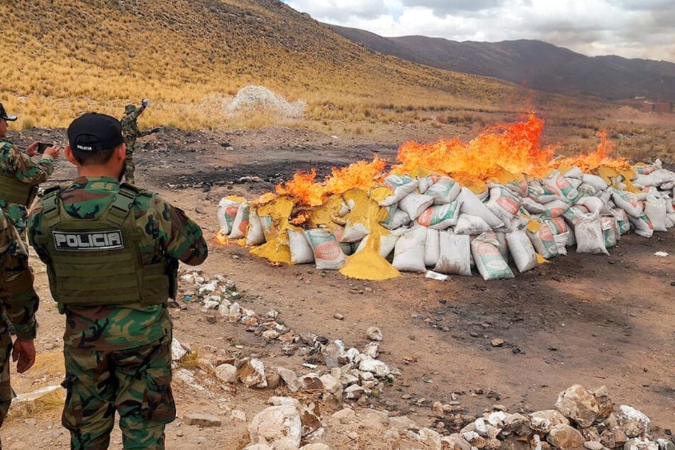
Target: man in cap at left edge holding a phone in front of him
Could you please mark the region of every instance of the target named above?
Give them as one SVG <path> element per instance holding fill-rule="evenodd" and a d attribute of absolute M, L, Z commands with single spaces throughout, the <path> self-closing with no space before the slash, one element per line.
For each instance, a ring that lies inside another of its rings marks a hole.
<path fill-rule="evenodd" d="M 54 160 L 58 158 L 59 148 L 50 147 L 38 163 L 31 156 L 38 155 L 38 143 L 33 142 L 21 152 L 5 136 L 9 121 L 16 121 L 0 103 L 0 208 L 13 221 L 19 234 L 26 231 L 26 209 L 31 206 L 38 185 L 47 180 L 54 172 Z"/>

